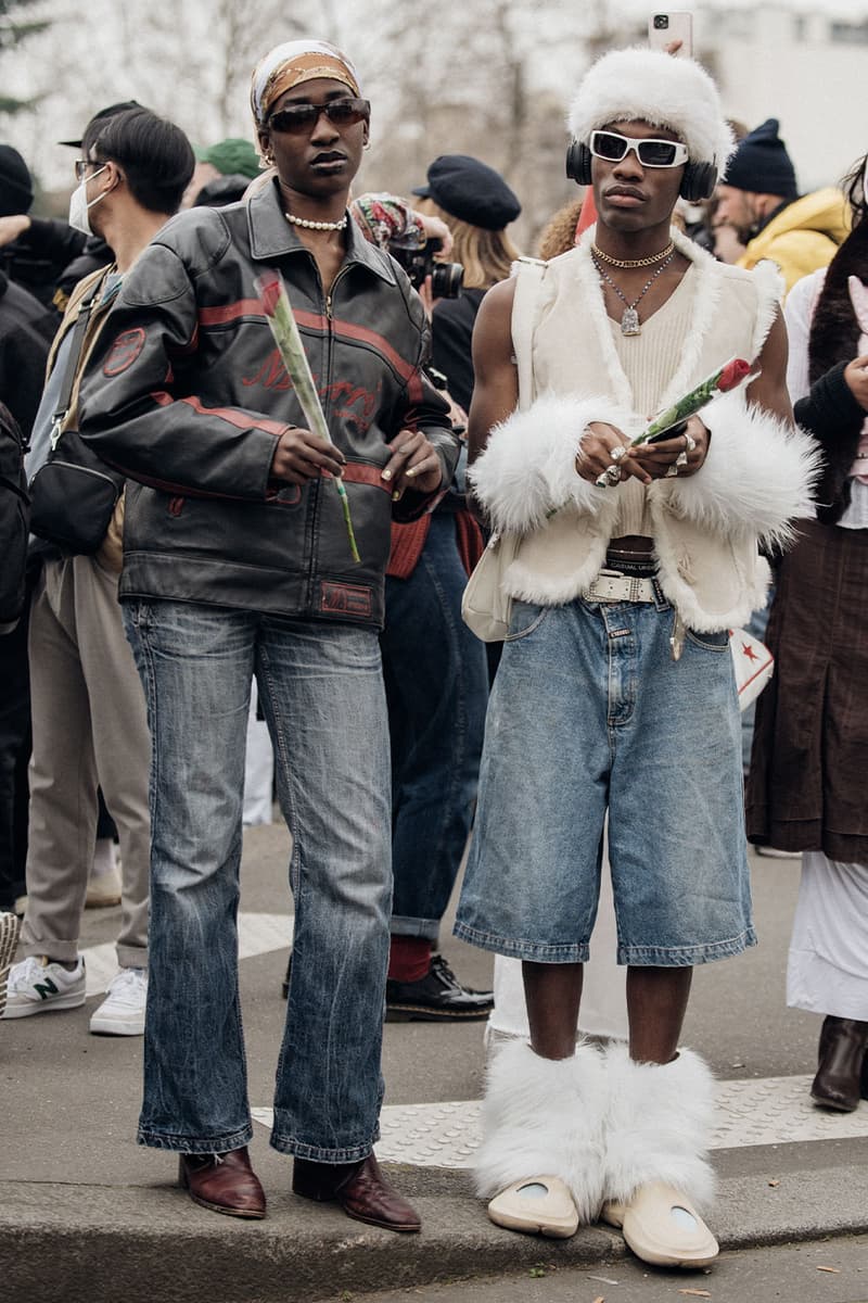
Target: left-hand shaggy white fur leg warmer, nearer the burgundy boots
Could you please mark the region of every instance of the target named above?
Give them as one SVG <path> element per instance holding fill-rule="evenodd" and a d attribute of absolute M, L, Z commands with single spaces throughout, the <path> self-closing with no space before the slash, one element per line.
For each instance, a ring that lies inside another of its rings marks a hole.
<path fill-rule="evenodd" d="M 593 1045 L 579 1045 L 570 1059 L 540 1058 L 527 1041 L 504 1045 L 488 1070 L 479 1195 L 491 1199 L 514 1181 L 560 1177 L 580 1221 L 595 1221 L 603 1205 L 605 1108 L 605 1066 Z"/>

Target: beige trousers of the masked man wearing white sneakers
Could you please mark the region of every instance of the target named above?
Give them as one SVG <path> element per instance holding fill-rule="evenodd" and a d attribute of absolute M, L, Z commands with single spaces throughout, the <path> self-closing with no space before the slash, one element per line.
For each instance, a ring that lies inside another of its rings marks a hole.
<path fill-rule="evenodd" d="M 78 954 L 96 788 L 117 825 L 122 968 L 147 967 L 151 740 L 117 576 L 90 556 L 47 562 L 30 611 L 30 842 L 25 955 Z"/>

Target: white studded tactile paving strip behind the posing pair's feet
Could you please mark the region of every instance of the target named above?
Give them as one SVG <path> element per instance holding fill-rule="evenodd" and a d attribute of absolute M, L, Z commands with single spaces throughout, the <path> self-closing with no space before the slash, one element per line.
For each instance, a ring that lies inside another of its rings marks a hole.
<path fill-rule="evenodd" d="M 720 1081 L 712 1149 L 868 1136 L 868 1108 L 826 1113 L 809 1100 L 809 1076 Z M 254 1109 L 269 1127 L 271 1109 Z M 415 1167 L 472 1167 L 479 1148 L 479 1100 L 388 1105 L 380 1115 L 377 1157 Z"/>

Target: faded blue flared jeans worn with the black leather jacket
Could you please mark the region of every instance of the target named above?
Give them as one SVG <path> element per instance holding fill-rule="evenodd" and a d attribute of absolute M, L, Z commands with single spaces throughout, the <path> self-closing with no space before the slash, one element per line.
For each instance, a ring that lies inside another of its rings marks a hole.
<path fill-rule="evenodd" d="M 293 971 L 271 1143 L 320 1162 L 379 1135 L 392 903 L 389 737 L 376 629 L 130 602 L 151 769 L 151 967 L 141 1144 L 251 1139 L 238 1006 L 245 736 L 255 674 L 293 834 Z"/>

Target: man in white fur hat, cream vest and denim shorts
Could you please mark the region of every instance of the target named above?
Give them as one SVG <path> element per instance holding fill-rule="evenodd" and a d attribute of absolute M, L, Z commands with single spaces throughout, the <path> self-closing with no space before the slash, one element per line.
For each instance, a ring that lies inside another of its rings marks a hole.
<path fill-rule="evenodd" d="M 699 1210 L 712 1078 L 679 1036 L 694 964 L 756 941 L 729 629 L 764 602 L 757 542 L 812 515 L 816 453 L 793 425 L 777 271 L 670 227 L 733 147 L 708 74 L 608 53 L 569 125 L 597 224 L 545 266 L 531 330 L 513 279 L 474 337 L 471 480 L 513 602 L 455 932 L 523 962 L 531 1029 L 493 1059 L 478 1181 L 502 1226 L 566 1237 L 601 1216 L 645 1261 L 698 1267 L 717 1253 Z M 631 446 L 735 357 L 746 390 Z M 600 1050 L 576 1048 L 576 1020 L 606 814 L 630 1036 Z"/>

